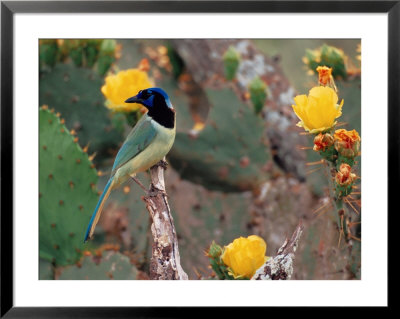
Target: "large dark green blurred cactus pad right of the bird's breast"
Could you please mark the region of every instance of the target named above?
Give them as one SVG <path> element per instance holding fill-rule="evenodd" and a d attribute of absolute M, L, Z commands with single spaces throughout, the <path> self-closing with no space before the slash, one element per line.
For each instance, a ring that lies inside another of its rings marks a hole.
<path fill-rule="evenodd" d="M 210 190 L 244 191 L 268 179 L 264 122 L 230 89 L 206 89 L 212 108 L 204 130 L 178 133 L 168 158 L 179 174 Z"/>

